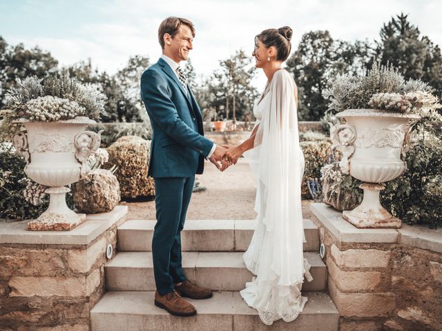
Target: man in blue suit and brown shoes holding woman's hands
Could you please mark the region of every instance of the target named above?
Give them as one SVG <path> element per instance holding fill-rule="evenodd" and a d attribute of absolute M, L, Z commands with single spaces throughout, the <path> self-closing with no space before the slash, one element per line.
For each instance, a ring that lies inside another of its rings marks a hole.
<path fill-rule="evenodd" d="M 196 314 L 182 297 L 212 297 L 211 290 L 186 279 L 181 264 L 180 232 L 195 174 L 202 174 L 204 157 L 222 171 L 228 166 L 222 160 L 226 149 L 203 137 L 201 111 L 180 67 L 193 49 L 193 37 L 191 21 L 164 19 L 158 29 L 162 56 L 141 77 L 142 99 L 153 130 L 148 176 L 155 181 L 157 212 L 152 239 L 155 305 L 179 316 Z"/>

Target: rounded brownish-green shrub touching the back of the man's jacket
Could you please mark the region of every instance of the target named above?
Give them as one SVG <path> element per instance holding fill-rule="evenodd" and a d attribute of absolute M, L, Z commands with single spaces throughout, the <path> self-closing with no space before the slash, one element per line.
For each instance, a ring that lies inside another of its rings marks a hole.
<path fill-rule="evenodd" d="M 108 148 L 109 162 L 103 167 L 117 166 L 115 176 L 119 182 L 121 196 L 126 198 L 153 197 L 153 179 L 147 177 L 150 141 L 140 137 L 119 138 Z"/>

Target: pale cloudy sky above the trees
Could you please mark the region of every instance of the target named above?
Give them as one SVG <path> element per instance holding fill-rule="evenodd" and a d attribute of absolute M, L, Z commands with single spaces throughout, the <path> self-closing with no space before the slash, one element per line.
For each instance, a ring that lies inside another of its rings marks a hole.
<path fill-rule="evenodd" d="M 161 21 L 185 17 L 196 29 L 193 67 L 209 77 L 236 50 L 251 54 L 253 37 L 267 28 L 290 26 L 293 50 L 311 30 L 329 30 L 334 39 L 373 41 L 383 23 L 401 12 L 442 46 L 441 0 L 0 0 L 0 35 L 12 45 L 48 50 L 61 66 L 90 58 L 112 74 L 133 55 L 157 61 Z M 262 72 L 254 84 L 264 86 Z"/>

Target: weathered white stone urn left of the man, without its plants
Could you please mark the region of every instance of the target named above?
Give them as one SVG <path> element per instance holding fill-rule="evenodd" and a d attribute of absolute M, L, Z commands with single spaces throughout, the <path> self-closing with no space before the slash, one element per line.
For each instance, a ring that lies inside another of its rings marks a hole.
<path fill-rule="evenodd" d="M 75 183 L 90 169 L 86 159 L 98 148 L 102 131 L 85 131 L 95 121 L 76 117 L 64 121 L 17 121 L 26 133 L 15 134 L 12 141 L 26 160 L 24 172 L 33 181 L 49 186 L 48 209 L 28 222 L 28 230 L 72 230 L 85 221 L 66 205 L 66 185 Z"/>

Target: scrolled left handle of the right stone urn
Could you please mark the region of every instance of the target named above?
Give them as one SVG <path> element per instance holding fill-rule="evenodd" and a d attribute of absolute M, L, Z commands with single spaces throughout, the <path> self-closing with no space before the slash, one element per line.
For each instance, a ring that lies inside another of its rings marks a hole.
<path fill-rule="evenodd" d="M 356 130 L 349 124 L 338 124 L 330 126 L 330 138 L 332 139 L 332 150 L 338 148 L 343 152 L 343 159 L 340 160 L 339 166 L 344 174 L 349 174 L 349 157 L 354 153 L 353 143 L 356 140 Z"/>

